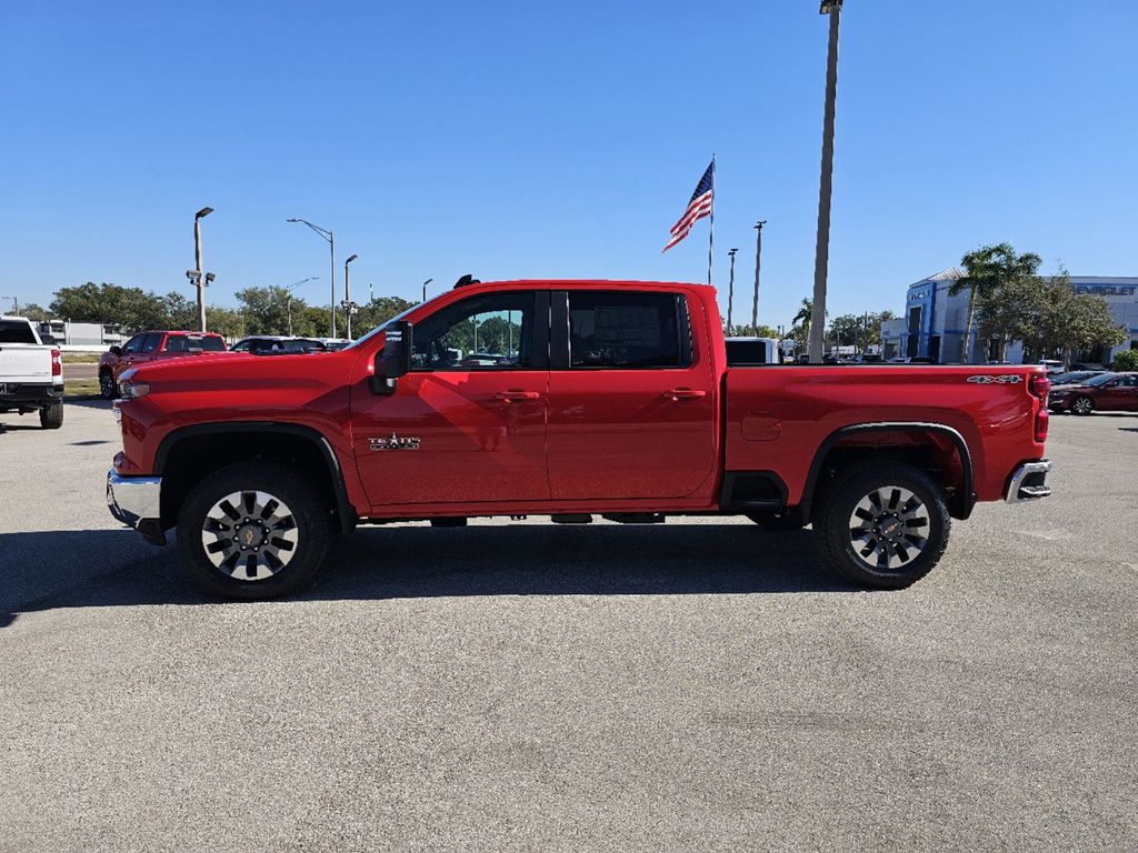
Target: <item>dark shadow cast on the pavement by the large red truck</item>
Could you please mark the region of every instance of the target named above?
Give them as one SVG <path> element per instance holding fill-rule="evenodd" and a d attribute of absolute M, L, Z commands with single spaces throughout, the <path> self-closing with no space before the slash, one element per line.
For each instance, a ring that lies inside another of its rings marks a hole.
<path fill-rule="evenodd" d="M 808 531 L 503 524 L 363 528 L 290 601 L 849 591 L 857 588 L 826 565 Z M 0 628 L 35 611 L 212 602 L 173 547 L 130 530 L 0 536 Z"/>

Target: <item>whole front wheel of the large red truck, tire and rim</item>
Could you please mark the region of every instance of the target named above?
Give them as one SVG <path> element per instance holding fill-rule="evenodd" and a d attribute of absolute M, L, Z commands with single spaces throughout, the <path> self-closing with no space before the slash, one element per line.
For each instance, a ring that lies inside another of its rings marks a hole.
<path fill-rule="evenodd" d="M 226 502 L 234 492 L 239 499 Z M 271 499 L 262 506 L 257 492 Z M 253 504 L 246 503 L 249 494 Z M 312 580 L 328 553 L 329 512 L 319 494 L 314 483 L 272 463 L 241 462 L 208 474 L 187 495 L 178 515 L 178 547 L 190 577 L 207 593 L 238 601 L 297 591 Z M 236 516 L 218 508 L 224 503 Z M 216 539 L 207 549 L 204 540 L 209 536 Z M 256 540 L 255 547 L 240 546 L 238 537 Z"/>

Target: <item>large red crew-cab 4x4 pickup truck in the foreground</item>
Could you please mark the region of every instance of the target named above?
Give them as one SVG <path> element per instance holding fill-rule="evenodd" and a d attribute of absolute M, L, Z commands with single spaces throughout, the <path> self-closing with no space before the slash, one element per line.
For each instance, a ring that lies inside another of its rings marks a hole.
<path fill-rule="evenodd" d="M 320 358 L 123 374 L 113 514 L 233 598 L 357 524 L 747 515 L 856 582 L 926 574 L 978 500 L 1049 494 L 1042 367 L 732 366 L 715 290 L 457 287 Z"/>

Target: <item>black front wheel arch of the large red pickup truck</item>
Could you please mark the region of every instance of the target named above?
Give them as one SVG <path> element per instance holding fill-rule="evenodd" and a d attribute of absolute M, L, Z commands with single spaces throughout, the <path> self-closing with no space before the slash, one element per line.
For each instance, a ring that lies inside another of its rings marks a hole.
<path fill-rule="evenodd" d="M 320 488 L 339 529 L 347 532 L 355 527 L 356 512 L 329 440 L 311 426 L 256 421 L 183 426 L 163 439 L 154 464 L 155 475 L 162 477 L 163 529 L 176 522 L 187 495 L 204 477 L 250 461 L 299 470 Z"/>

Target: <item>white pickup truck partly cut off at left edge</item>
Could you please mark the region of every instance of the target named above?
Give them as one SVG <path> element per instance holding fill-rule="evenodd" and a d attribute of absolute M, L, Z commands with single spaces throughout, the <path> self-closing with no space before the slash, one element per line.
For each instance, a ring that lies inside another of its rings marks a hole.
<path fill-rule="evenodd" d="M 0 413 L 40 413 L 40 425 L 64 424 L 64 371 L 59 349 L 40 341 L 27 317 L 0 316 Z"/>

